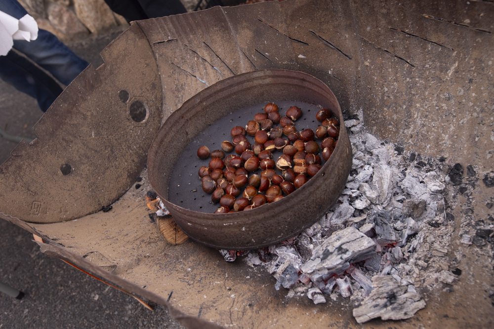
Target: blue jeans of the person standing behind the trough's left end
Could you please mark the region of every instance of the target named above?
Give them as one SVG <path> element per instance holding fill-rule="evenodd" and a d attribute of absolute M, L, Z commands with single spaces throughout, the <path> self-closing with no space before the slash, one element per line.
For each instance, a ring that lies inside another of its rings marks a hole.
<path fill-rule="evenodd" d="M 0 10 L 17 19 L 27 14 L 16 0 L 1 0 Z M 39 30 L 36 40 L 14 40 L 13 49 L 7 56 L 0 56 L 0 78 L 36 98 L 43 111 L 48 109 L 62 89 L 48 74 L 22 59 L 19 53 L 64 85 L 70 84 L 88 66 L 86 61 L 45 30 Z"/>

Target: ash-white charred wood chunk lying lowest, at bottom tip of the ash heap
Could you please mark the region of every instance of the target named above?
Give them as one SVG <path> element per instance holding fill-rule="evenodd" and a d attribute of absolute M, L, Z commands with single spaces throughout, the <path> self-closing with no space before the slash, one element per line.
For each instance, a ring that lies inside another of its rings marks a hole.
<path fill-rule="evenodd" d="M 425 301 L 408 287 L 401 285 L 391 276 L 374 276 L 373 290 L 361 306 L 353 309 L 358 323 L 371 319 L 403 320 L 410 319 L 415 312 L 425 307 Z"/>

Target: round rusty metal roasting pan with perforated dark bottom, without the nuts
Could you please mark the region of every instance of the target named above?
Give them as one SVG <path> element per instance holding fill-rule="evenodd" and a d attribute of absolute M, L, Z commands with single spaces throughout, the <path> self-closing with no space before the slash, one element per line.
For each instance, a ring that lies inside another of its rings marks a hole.
<path fill-rule="evenodd" d="M 203 196 L 197 176 L 207 161 L 191 153 L 195 154 L 200 143 L 211 150 L 219 148 L 218 143 L 229 139 L 233 126 L 245 126 L 262 109 L 261 104 L 268 102 L 280 104 L 282 114 L 289 104 L 300 104 L 304 115 L 297 120 L 297 128 L 317 127 L 317 121 L 312 121 L 319 108 L 330 109 L 343 122 L 335 96 L 322 81 L 296 71 L 263 70 L 235 75 L 202 90 L 173 112 L 156 135 L 148 152 L 150 183 L 177 225 L 192 239 L 228 250 L 275 244 L 320 219 L 344 188 L 352 151 L 346 129 L 341 129 L 329 160 L 295 192 L 247 212 L 212 213 L 218 206 L 209 204 L 209 194 Z"/>

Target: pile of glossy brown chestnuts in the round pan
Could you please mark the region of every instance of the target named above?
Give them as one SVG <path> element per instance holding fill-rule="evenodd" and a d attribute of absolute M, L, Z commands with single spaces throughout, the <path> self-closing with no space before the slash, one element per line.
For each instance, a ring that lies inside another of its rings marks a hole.
<path fill-rule="evenodd" d="M 215 214 L 278 201 L 316 175 L 322 159 L 327 161 L 336 146 L 340 123 L 330 110 L 322 109 L 316 114 L 320 122 L 316 131 L 297 131 L 294 122 L 302 114 L 292 106 L 282 117 L 278 106 L 268 103 L 245 128 L 233 127 L 232 140 L 222 142 L 221 149 L 198 148 L 200 159 L 210 158 L 209 164 L 199 169 L 199 177 L 211 201 L 219 203 Z M 253 137 L 254 144 L 246 135 Z"/>

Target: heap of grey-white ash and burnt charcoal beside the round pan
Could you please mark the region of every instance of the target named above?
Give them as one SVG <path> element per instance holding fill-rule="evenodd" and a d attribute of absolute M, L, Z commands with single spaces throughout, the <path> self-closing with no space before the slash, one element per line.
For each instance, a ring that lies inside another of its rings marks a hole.
<path fill-rule="evenodd" d="M 305 294 L 316 304 L 338 293 L 357 306 L 366 296 L 368 301 L 395 291 L 397 299 L 387 302 L 396 311 L 388 307 L 375 317 L 405 319 L 425 305 L 417 291 L 455 281 L 446 257 L 453 225 L 443 193 L 450 180 L 441 163 L 395 150 L 366 132 L 361 120 L 345 125 L 354 157 L 336 204 L 298 237 L 244 253 L 244 259 L 250 266 L 266 266 L 276 289 Z M 376 280 L 384 280 L 385 287 L 375 288 Z M 358 321 L 366 319 L 371 318 Z"/>

